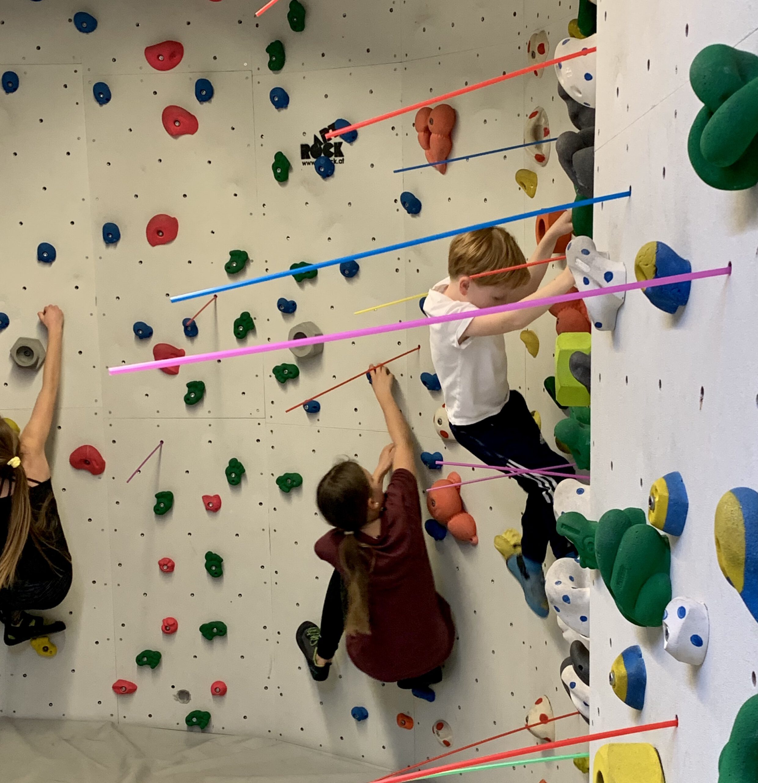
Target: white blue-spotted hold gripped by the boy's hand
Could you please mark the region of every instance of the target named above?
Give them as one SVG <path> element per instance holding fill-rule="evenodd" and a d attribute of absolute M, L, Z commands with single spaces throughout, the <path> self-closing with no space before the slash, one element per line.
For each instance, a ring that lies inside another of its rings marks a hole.
<path fill-rule="evenodd" d="M 620 261 L 612 261 L 601 253 L 589 236 L 575 236 L 566 247 L 566 263 L 580 291 L 596 290 L 627 282 L 627 268 Z M 624 292 L 584 300 L 587 314 L 595 329 L 613 331 L 616 314 L 624 301 Z"/>

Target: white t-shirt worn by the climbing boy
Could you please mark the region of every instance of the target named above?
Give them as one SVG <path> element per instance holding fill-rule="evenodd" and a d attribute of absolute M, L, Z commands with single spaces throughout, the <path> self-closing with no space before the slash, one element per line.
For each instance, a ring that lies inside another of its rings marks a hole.
<path fill-rule="evenodd" d="M 477 312 L 476 305 L 454 301 L 442 292 L 450 278 L 440 280 L 424 301 L 427 316 L 446 316 L 451 312 Z M 459 427 L 500 413 L 508 402 L 508 357 L 505 336 L 458 338 L 472 319 L 435 323 L 429 327 L 432 361 L 445 397 L 447 418 Z"/>

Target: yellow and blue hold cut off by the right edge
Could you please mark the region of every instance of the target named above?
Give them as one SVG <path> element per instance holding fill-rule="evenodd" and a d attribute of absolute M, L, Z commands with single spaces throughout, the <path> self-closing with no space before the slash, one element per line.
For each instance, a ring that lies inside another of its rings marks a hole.
<path fill-rule="evenodd" d="M 721 573 L 758 620 L 758 493 L 736 487 L 721 496 L 713 532 Z"/>

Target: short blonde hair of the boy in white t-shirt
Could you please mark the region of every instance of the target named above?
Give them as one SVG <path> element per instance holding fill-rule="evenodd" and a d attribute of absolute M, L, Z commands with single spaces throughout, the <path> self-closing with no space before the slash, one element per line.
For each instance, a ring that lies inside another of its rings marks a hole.
<path fill-rule="evenodd" d="M 505 229 L 494 226 L 454 236 L 447 255 L 447 273 L 454 280 L 464 275 L 476 275 L 525 262 L 524 254 L 513 236 Z M 476 278 L 481 286 L 508 283 L 511 288 L 520 288 L 529 280 L 529 269 Z"/>

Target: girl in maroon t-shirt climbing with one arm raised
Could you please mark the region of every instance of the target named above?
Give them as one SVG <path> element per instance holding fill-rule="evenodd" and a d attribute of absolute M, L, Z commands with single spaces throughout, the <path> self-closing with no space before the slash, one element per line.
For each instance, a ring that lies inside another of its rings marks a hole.
<path fill-rule="evenodd" d="M 372 387 L 392 443 L 373 474 L 345 460 L 318 485 L 319 511 L 334 529 L 318 539 L 318 557 L 335 569 L 321 628 L 304 622 L 296 638 L 314 680 L 329 677 L 339 640 L 355 666 L 382 682 L 397 682 L 434 701 L 455 629 L 447 601 L 436 593 L 422 529 L 411 431 L 393 399 L 394 377 L 372 368 Z M 383 482 L 393 470 L 386 493 Z"/>

